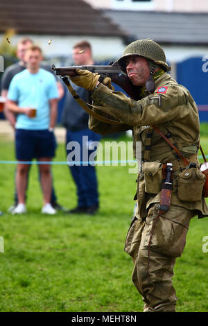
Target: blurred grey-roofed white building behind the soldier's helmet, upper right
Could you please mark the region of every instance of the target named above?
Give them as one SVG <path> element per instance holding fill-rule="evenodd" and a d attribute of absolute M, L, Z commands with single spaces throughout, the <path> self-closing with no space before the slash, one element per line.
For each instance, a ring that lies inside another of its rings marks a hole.
<path fill-rule="evenodd" d="M 173 66 L 208 54 L 207 0 L 85 1 L 128 33 L 129 42 L 150 38 L 161 44 Z"/>

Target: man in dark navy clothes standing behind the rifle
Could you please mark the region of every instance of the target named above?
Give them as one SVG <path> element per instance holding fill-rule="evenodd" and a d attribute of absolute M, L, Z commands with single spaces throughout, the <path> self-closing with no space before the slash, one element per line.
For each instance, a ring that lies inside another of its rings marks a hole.
<path fill-rule="evenodd" d="M 75 65 L 94 65 L 91 45 L 88 42 L 81 41 L 73 46 L 73 62 Z M 73 88 L 84 101 L 89 100 L 89 92 L 86 89 L 76 85 L 73 85 Z M 89 130 L 88 119 L 89 115 L 87 112 L 67 92 L 62 114 L 62 123 L 67 129 L 67 144 L 70 141 L 77 141 L 80 145 L 80 161 L 83 160 L 83 148 L 87 148 L 89 158 L 90 153 L 94 151 L 94 147 L 91 146 L 93 141 L 101 139 L 100 135 Z M 69 155 L 70 153 L 71 151 L 67 150 L 67 154 Z M 80 165 L 71 164 L 70 170 L 77 187 L 78 205 L 74 209 L 71 209 L 69 214 L 95 214 L 99 206 L 95 166 L 92 164 L 85 165 L 83 163 L 80 163 Z"/>

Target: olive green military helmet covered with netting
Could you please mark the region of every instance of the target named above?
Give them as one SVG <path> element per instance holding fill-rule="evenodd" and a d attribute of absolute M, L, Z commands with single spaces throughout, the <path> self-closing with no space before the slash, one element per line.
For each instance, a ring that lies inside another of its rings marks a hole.
<path fill-rule="evenodd" d="M 148 60 L 152 60 L 161 66 L 165 71 L 171 70 L 166 62 L 166 55 L 162 47 L 150 39 L 137 40 L 130 43 L 124 50 L 121 58 L 117 60 L 121 69 L 125 72 L 125 60 L 130 55 L 141 55 Z"/>

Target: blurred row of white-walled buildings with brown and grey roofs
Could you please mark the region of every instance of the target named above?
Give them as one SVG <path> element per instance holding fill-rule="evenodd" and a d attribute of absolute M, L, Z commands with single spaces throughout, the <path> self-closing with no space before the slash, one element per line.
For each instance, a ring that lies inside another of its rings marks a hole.
<path fill-rule="evenodd" d="M 207 0 L 51 0 L 50 6 L 7 0 L 0 1 L 0 21 L 0 42 L 14 28 L 13 45 L 30 36 L 49 58 L 70 61 L 73 44 L 83 39 L 96 60 L 119 58 L 129 42 L 147 37 L 163 46 L 171 63 L 208 55 Z"/>

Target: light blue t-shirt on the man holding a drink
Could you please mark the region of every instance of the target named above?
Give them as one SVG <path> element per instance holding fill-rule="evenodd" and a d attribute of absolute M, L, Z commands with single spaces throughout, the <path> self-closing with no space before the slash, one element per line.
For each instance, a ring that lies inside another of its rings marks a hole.
<path fill-rule="evenodd" d="M 18 114 L 15 128 L 48 129 L 50 122 L 49 100 L 58 98 L 55 76 L 42 68 L 37 74 L 31 74 L 28 69 L 25 69 L 12 78 L 8 89 L 8 98 L 17 102 L 20 108 L 37 109 L 35 118 L 29 118 L 26 114 Z"/>

